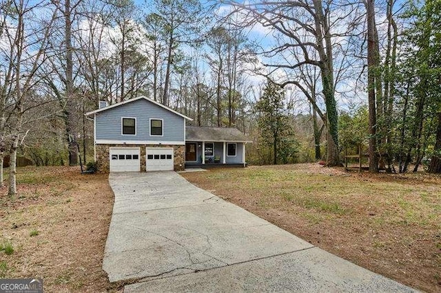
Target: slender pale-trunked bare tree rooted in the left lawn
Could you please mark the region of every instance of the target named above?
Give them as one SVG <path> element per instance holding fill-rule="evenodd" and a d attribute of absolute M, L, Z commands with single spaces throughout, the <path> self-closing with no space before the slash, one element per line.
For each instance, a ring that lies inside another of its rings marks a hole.
<path fill-rule="evenodd" d="M 53 10 L 48 19 L 40 19 L 37 11 L 42 8 L 41 3 L 30 6 L 28 2 L 17 0 L 12 1 L 11 6 L 14 15 L 12 23 L 6 25 L 4 30 L 8 47 L 3 54 L 12 57 L 8 59 L 8 68 L 12 69 L 8 74 L 8 87 L 3 88 L 2 98 L 5 98 L 6 107 L 3 111 L 7 113 L 10 132 L 6 140 L 10 153 L 8 195 L 13 197 L 17 194 L 17 150 L 29 131 L 24 127 L 26 123 L 38 119 L 33 117 L 28 120 L 26 113 L 45 103 L 37 98 L 37 85 L 44 78 L 40 75 L 40 68 L 47 60 L 48 39 L 57 12 Z"/>

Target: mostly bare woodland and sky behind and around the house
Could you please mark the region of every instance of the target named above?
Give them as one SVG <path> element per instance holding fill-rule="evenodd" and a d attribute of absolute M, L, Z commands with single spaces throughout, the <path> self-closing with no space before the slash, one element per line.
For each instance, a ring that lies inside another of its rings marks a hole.
<path fill-rule="evenodd" d="M 440 173 L 440 32 L 437 0 L 1 0 L 0 168 L 14 195 L 17 155 L 92 161 L 84 113 L 143 95 L 243 131 L 249 164 Z"/>

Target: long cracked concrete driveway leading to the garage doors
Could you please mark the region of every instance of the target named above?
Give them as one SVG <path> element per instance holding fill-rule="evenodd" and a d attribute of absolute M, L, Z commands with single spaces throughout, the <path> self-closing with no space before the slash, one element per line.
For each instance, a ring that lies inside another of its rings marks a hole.
<path fill-rule="evenodd" d="M 125 292 L 412 292 L 170 172 L 111 173 L 103 270 Z"/>

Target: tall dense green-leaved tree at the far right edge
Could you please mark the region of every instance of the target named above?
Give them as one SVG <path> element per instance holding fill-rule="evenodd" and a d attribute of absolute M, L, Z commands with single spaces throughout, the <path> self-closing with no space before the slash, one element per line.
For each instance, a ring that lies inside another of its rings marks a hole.
<path fill-rule="evenodd" d="M 414 150 L 416 167 L 413 171 L 417 171 L 427 150 L 430 150 L 429 145 L 435 139 L 429 172 L 441 173 L 441 2 L 411 2 L 404 17 L 409 27 L 404 30 L 404 62 L 400 70 L 407 84 L 401 96 L 406 98 L 404 105 L 409 105 L 408 115 L 411 120 L 407 123 L 403 118 L 402 124 L 402 131 L 408 128 L 407 132 L 411 133 L 404 166 L 407 166 L 411 151 Z M 404 107 L 403 111 L 406 110 Z"/>

